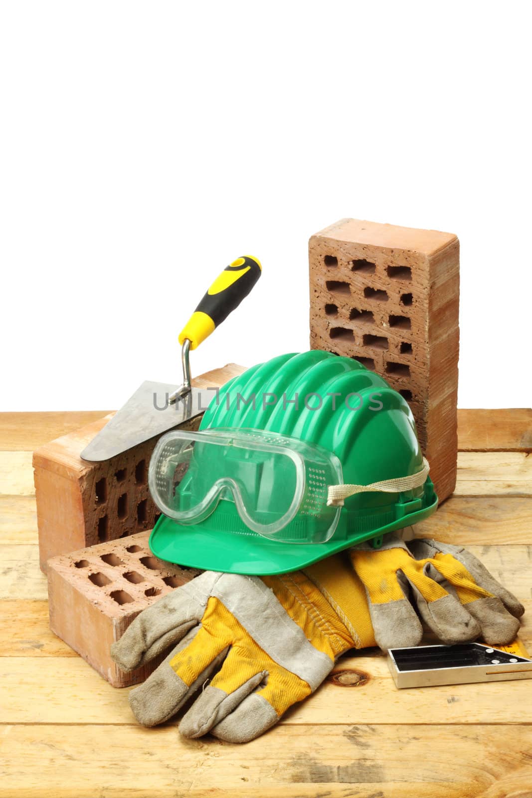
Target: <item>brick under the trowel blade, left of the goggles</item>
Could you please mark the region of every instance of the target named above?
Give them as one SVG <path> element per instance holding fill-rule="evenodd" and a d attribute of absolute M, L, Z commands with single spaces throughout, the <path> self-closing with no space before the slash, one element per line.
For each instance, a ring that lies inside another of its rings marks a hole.
<path fill-rule="evenodd" d="M 242 370 L 227 365 L 197 377 L 194 384 L 220 386 Z M 80 453 L 111 415 L 33 452 L 42 571 L 50 557 L 151 529 L 156 521 L 148 465 L 158 438 L 101 463 L 81 459 Z M 199 421 L 195 417 L 182 426 L 197 429 Z"/>

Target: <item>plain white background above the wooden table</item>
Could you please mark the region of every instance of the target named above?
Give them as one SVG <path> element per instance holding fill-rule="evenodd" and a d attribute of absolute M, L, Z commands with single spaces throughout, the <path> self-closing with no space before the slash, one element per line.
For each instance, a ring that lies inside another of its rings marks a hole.
<path fill-rule="evenodd" d="M 2 2 L 1 410 L 179 381 L 232 259 L 254 293 L 195 373 L 308 347 L 307 240 L 459 235 L 459 405 L 530 405 L 530 4 Z"/>

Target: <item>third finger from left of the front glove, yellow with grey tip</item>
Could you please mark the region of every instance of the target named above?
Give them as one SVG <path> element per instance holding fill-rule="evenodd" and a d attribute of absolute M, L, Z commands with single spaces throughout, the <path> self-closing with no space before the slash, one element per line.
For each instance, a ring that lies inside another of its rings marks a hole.
<path fill-rule="evenodd" d="M 199 695 L 179 724 L 183 737 L 202 737 L 223 721 L 266 678 L 267 670 L 242 662 L 231 650 L 221 670 Z"/>

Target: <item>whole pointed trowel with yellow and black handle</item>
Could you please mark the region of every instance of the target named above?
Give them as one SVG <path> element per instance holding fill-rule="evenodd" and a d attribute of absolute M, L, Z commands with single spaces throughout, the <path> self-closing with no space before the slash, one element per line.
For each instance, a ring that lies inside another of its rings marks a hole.
<path fill-rule="evenodd" d="M 260 261 L 250 255 L 234 260 L 219 274 L 179 334 L 182 385 L 143 382 L 84 448 L 81 452 L 84 460 L 109 460 L 207 409 L 216 389 L 192 387 L 190 350 L 199 346 L 238 307 L 261 274 Z"/>

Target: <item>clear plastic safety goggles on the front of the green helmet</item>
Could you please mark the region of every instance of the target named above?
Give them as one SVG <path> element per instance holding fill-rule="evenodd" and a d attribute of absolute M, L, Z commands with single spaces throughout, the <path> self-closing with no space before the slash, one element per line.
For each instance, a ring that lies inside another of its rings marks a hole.
<path fill-rule="evenodd" d="M 179 523 L 199 523 L 231 501 L 246 527 L 287 543 L 325 543 L 341 512 L 327 504 L 329 486 L 342 482 L 333 452 L 254 429 L 168 433 L 148 482 L 157 507 Z"/>

